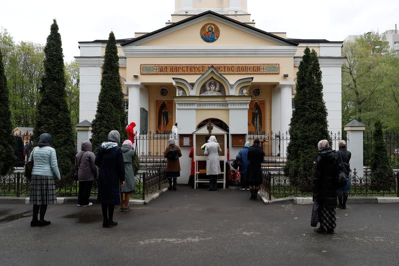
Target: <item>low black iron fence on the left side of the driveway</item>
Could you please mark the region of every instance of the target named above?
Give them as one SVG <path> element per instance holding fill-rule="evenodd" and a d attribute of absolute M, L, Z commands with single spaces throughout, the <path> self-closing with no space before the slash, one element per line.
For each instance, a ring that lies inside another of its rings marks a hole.
<path fill-rule="evenodd" d="M 149 194 L 164 188 L 168 179 L 165 168 L 157 168 L 138 173 L 135 177 L 136 189 L 132 198 L 145 200 Z M 56 182 L 56 195 L 58 197 L 77 197 L 79 193 L 78 182 Z M 0 176 L 0 196 L 29 197 L 30 183 L 23 173 L 13 172 L 6 176 Z M 97 196 L 98 182 L 93 183 L 91 196 Z"/>

